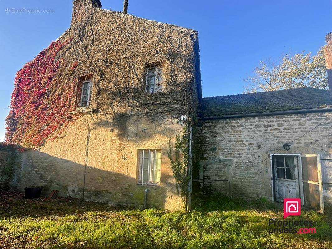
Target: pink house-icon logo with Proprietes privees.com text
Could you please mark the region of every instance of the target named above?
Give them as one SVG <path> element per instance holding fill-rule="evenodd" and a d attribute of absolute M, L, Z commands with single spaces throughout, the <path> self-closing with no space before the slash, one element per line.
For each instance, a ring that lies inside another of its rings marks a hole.
<path fill-rule="evenodd" d="M 288 216 L 298 216 L 301 214 L 301 199 L 286 198 L 284 199 L 284 219 Z M 275 220 L 269 219 L 269 235 L 271 233 L 316 233 L 313 228 L 312 220 Z M 296 226 L 304 226 L 297 230 Z"/>

